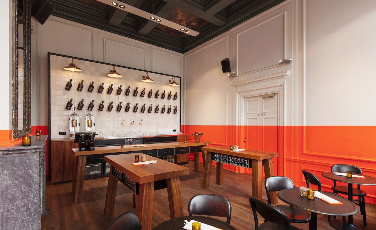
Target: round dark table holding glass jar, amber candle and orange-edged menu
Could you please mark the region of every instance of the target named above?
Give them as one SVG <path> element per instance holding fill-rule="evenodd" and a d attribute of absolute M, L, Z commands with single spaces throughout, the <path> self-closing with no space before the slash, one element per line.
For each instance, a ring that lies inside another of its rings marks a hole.
<path fill-rule="evenodd" d="M 311 230 L 317 230 L 317 214 L 348 216 L 359 212 L 358 206 L 352 201 L 332 192 L 320 192 L 343 204 L 328 204 L 317 197 L 315 200 L 308 200 L 307 197 L 300 195 L 299 189 L 284 189 L 279 191 L 277 196 L 291 206 L 311 212 Z"/>

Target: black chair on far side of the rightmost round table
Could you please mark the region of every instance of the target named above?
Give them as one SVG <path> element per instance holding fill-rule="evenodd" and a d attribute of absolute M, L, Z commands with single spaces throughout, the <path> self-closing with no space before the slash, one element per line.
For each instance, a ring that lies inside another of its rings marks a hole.
<path fill-rule="evenodd" d="M 358 166 L 355 165 L 333 165 L 331 168 L 332 172 L 347 172 L 351 171 L 355 174 L 363 174 L 362 169 L 360 169 Z M 334 186 L 331 187 L 334 193 L 340 193 L 347 195 L 347 186 L 339 186 L 337 185 L 337 182 L 333 180 Z M 353 196 L 358 197 L 358 199 L 353 201 L 359 201 L 359 204 L 355 203 L 360 207 L 360 214 L 363 215 L 363 225 L 367 225 L 367 218 L 365 216 L 365 201 L 364 197 L 367 195 L 367 192 L 360 189 L 360 185 L 358 185 L 357 188 L 353 188 Z M 328 220 L 330 221 L 330 216 L 328 217 Z"/>

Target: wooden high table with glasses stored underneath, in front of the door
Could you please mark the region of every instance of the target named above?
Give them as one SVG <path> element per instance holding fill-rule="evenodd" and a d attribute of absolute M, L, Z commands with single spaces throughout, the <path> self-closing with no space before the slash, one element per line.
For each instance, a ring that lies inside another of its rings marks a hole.
<path fill-rule="evenodd" d="M 244 159 L 244 161 L 240 162 L 237 166 L 243 165 L 245 168 L 252 168 L 252 196 L 262 200 L 262 166 L 264 166 L 265 178 L 274 176 L 271 158 L 277 157 L 278 153 L 257 150 L 231 151 L 229 147 L 223 146 L 203 147 L 202 150 L 206 152 L 204 176 L 201 186 L 202 188 L 209 188 L 210 172 L 213 160 L 217 162 L 217 185 L 222 185 L 223 163 L 237 165 L 236 163 L 232 163 L 232 157 L 238 157 L 240 159 Z M 217 157 L 218 154 L 220 157 Z M 278 202 L 276 192 L 271 192 L 270 198 L 272 204 L 276 204 Z"/>

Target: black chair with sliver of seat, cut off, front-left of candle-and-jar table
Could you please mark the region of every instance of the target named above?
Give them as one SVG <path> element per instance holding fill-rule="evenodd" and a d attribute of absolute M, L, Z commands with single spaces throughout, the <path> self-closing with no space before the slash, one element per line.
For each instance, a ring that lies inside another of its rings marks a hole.
<path fill-rule="evenodd" d="M 255 219 L 255 230 L 299 230 L 290 224 L 287 215 L 275 206 L 271 206 L 255 197 L 249 198 L 252 207 L 253 219 Z M 264 218 L 264 223 L 258 225 L 259 215 Z"/>

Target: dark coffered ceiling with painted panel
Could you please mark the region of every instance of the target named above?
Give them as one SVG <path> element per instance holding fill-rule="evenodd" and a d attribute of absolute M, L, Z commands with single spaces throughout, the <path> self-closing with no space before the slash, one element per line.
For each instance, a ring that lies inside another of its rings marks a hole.
<path fill-rule="evenodd" d="M 284 0 L 121 0 L 196 30 L 196 37 L 96 0 L 50 0 L 52 15 L 185 53 Z"/>

